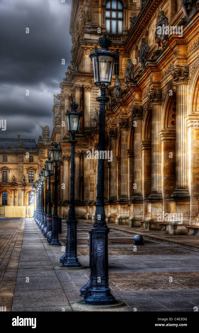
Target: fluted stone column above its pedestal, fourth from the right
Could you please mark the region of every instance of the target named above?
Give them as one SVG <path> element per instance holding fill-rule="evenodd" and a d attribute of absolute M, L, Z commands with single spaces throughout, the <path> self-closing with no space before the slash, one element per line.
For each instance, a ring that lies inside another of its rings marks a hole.
<path fill-rule="evenodd" d="M 128 200 L 128 158 L 127 158 L 127 137 L 128 124 L 127 119 L 118 119 L 119 131 L 121 133 L 121 196 L 120 200 Z"/>

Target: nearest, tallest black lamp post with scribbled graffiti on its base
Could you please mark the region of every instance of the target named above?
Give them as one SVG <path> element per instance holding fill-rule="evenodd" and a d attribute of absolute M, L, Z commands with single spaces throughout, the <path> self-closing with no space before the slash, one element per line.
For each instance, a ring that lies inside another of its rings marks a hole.
<path fill-rule="evenodd" d="M 105 150 L 105 108 L 108 98 L 105 91 L 111 85 L 113 64 L 118 57 L 117 52 L 108 50 L 111 39 L 106 35 L 98 39 L 101 50 L 95 46 L 90 58 L 93 61 L 95 85 L 100 87 L 101 95 L 96 100 L 100 102 L 99 109 L 99 142 L 98 142 L 98 174 L 95 222 L 92 231 L 92 265 L 88 283 L 81 288 L 81 296 L 86 304 L 114 304 L 117 303 L 108 283 L 108 233 L 104 210 L 104 159 L 101 151 Z"/>

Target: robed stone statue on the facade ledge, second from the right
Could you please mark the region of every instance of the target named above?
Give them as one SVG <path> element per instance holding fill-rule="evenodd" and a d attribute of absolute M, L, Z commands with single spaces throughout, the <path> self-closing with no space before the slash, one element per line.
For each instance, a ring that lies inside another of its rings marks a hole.
<path fill-rule="evenodd" d="M 168 19 L 164 15 L 164 11 L 161 10 L 159 12 L 159 20 L 156 24 L 156 30 L 155 30 L 155 44 L 157 50 L 159 50 L 159 46 L 161 46 L 161 49 L 164 49 L 164 39 L 168 39 L 168 35 L 165 35 L 164 29 L 168 26 Z"/>

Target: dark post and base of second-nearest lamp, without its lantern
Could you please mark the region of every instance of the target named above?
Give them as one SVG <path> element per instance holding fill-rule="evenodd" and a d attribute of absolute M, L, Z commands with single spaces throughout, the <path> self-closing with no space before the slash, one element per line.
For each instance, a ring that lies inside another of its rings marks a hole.
<path fill-rule="evenodd" d="M 77 258 L 77 220 L 75 217 L 75 135 L 72 134 L 70 159 L 70 204 L 67 222 L 66 252 L 60 258 L 62 267 L 80 267 Z"/>

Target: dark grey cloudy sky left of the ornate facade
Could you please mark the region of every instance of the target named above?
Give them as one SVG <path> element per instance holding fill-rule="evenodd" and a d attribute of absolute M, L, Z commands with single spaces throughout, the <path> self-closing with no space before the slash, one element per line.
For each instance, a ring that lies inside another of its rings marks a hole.
<path fill-rule="evenodd" d="M 51 135 L 53 94 L 60 93 L 59 83 L 71 61 L 71 3 L 1 0 L 0 119 L 7 124 L 0 138 L 20 134 L 37 142 L 40 126 L 46 125 Z"/>

